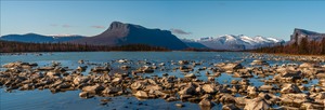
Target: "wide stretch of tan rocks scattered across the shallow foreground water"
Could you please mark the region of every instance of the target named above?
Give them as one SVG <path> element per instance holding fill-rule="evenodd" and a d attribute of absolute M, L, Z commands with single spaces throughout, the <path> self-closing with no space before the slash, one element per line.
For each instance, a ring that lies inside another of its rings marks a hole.
<path fill-rule="evenodd" d="M 255 58 L 249 66 L 242 63 L 245 58 Z M 298 60 L 302 64 L 269 65 L 268 60 Z M 86 60 L 78 61 L 76 69 L 61 66 L 53 61 L 51 66 L 38 66 L 35 63 L 9 63 L 0 71 L 0 85 L 6 92 L 14 90 L 50 90 L 52 93 L 77 91 L 80 98 L 134 96 L 139 99 L 161 98 L 166 101 L 196 102 L 202 109 L 210 109 L 216 104 L 222 104 L 225 110 L 323 110 L 325 106 L 325 63 L 324 57 L 306 56 L 269 56 L 253 54 L 238 61 L 211 64 L 195 69 L 204 61 L 178 60 L 171 64 L 183 77 L 170 75 L 143 77 L 157 70 L 164 71 L 167 64 L 145 63 L 146 66 L 132 69 L 133 64 L 128 59 L 118 59 L 114 63 L 103 64 L 88 68 L 91 64 Z M 113 72 L 112 64 L 118 64 L 119 69 L 132 69 L 131 72 Z M 82 66 L 81 66 L 82 65 Z M 90 69 L 84 74 L 82 71 Z M 196 71 L 206 70 L 205 74 Z M 220 84 L 216 80 L 222 73 L 231 74 L 240 80 L 229 81 L 230 84 Z M 198 78 L 206 75 L 206 80 Z M 262 78 L 261 86 L 250 83 L 253 77 Z M 272 77 L 272 78 L 268 78 Z M 317 84 L 306 86 L 311 80 Z M 107 105 L 109 100 L 101 100 Z M 184 107 L 177 104 L 177 107 Z"/>

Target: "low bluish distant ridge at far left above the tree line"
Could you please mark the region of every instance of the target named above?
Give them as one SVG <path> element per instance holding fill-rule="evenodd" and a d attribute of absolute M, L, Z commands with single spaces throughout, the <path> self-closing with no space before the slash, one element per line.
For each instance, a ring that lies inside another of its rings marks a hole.
<path fill-rule="evenodd" d="M 70 40 L 77 40 L 84 38 L 82 36 L 67 36 L 67 37 L 58 37 L 58 36 L 42 36 L 37 33 L 26 33 L 26 35 L 6 35 L 2 36 L 0 40 L 4 41 L 16 41 L 16 42 L 29 42 L 29 43 L 57 43 L 57 42 L 66 42 Z"/>

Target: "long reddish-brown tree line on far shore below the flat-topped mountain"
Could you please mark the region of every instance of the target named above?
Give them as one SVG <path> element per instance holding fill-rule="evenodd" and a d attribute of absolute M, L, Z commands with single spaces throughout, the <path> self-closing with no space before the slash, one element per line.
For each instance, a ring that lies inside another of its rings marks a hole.
<path fill-rule="evenodd" d="M 89 45 L 74 43 L 23 43 L 0 40 L 0 53 L 15 52 L 96 52 L 96 51 L 169 51 L 165 47 L 146 44 L 129 44 L 121 46 Z"/>

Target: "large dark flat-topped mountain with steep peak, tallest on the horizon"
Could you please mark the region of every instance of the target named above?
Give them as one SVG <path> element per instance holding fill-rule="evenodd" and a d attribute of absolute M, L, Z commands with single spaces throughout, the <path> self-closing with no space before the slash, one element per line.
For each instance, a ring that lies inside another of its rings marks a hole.
<path fill-rule="evenodd" d="M 126 45 L 148 44 L 170 50 L 183 50 L 187 45 L 171 33 L 169 30 L 148 29 L 140 25 L 113 22 L 107 30 L 101 35 L 70 41 L 80 44 L 93 45 Z"/>

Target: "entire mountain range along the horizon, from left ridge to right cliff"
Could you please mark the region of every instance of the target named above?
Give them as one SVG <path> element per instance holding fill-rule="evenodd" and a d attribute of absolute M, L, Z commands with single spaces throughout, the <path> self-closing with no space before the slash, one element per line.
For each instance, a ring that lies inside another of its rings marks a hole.
<path fill-rule="evenodd" d="M 308 37 L 309 40 L 320 41 L 325 38 L 325 33 L 318 33 L 304 29 L 296 28 L 290 42 L 299 41 L 301 38 Z M 37 33 L 26 35 L 8 35 L 2 36 L 0 40 L 18 41 L 18 42 L 70 42 L 78 44 L 92 45 L 126 45 L 126 44 L 147 44 L 152 46 L 161 46 L 170 50 L 183 50 L 187 47 L 195 49 L 213 49 L 213 50 L 252 50 L 263 46 L 273 46 L 285 44 L 281 39 L 265 38 L 261 36 L 247 37 L 244 35 L 224 35 L 219 37 L 207 37 L 198 40 L 179 39 L 169 30 L 150 29 L 140 25 L 113 22 L 109 27 L 102 33 L 93 37 L 83 36 L 42 36 Z"/>

